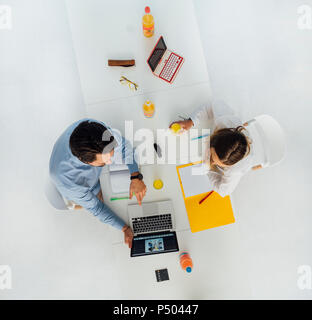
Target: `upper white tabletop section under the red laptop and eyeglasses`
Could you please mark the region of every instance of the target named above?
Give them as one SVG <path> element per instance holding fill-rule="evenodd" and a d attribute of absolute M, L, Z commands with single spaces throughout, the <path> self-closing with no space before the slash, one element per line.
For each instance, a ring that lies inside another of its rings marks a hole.
<path fill-rule="evenodd" d="M 208 81 L 192 1 L 66 0 L 66 4 L 87 105 Z M 155 19 L 151 38 L 142 31 L 146 5 Z M 161 35 L 168 49 L 185 58 L 173 84 L 154 76 L 146 62 Z M 136 66 L 108 67 L 108 59 L 135 59 Z M 139 90 L 123 87 L 121 75 L 135 81 Z"/>

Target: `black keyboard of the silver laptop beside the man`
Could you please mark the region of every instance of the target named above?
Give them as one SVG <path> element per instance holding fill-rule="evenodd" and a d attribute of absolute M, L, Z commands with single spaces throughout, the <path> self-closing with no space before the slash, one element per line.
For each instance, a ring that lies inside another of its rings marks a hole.
<path fill-rule="evenodd" d="M 133 232 L 153 232 L 172 229 L 171 214 L 132 218 Z"/>

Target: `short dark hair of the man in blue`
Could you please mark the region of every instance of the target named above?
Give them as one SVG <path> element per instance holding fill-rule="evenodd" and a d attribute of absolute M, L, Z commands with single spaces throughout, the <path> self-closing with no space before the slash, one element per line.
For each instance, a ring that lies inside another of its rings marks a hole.
<path fill-rule="evenodd" d="M 104 132 L 107 132 L 107 139 L 104 139 Z M 90 163 L 113 141 L 114 136 L 102 124 L 84 121 L 72 132 L 69 145 L 74 156 L 84 163 Z"/>

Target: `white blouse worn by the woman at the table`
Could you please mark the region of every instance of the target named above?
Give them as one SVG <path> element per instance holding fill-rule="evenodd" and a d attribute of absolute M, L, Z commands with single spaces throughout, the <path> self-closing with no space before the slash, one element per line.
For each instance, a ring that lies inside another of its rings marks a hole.
<path fill-rule="evenodd" d="M 242 121 L 235 115 L 234 111 L 226 105 L 223 101 L 214 101 L 208 106 L 197 109 L 190 117 L 194 126 L 199 123 L 211 130 L 213 133 L 216 129 L 221 128 L 236 128 L 242 126 Z M 243 133 L 252 141 L 250 134 L 247 130 Z M 209 143 L 209 142 L 208 142 Z M 250 144 L 249 154 L 230 167 L 219 167 L 216 169 L 210 168 L 210 148 L 207 147 L 205 153 L 205 166 L 206 173 L 212 183 L 213 190 L 218 192 L 222 197 L 231 194 L 236 188 L 240 178 L 248 172 L 254 165 L 254 148 Z M 207 161 L 208 160 L 208 161 Z"/>

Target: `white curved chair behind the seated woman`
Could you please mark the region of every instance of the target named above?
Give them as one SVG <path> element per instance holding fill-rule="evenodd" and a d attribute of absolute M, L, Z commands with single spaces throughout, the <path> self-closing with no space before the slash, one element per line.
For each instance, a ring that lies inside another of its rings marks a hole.
<path fill-rule="evenodd" d="M 285 136 L 279 123 L 269 115 L 261 115 L 244 123 L 248 127 L 255 150 L 253 169 L 273 166 L 285 155 Z"/>

